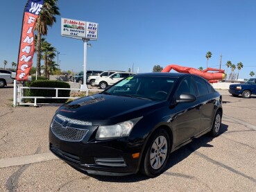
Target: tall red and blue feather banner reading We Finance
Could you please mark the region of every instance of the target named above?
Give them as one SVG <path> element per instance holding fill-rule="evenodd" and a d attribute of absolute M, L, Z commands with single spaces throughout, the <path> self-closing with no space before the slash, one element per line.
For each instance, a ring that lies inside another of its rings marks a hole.
<path fill-rule="evenodd" d="M 44 0 L 28 0 L 24 9 L 22 36 L 19 46 L 16 80 L 28 80 L 35 52 L 34 28 Z"/>

